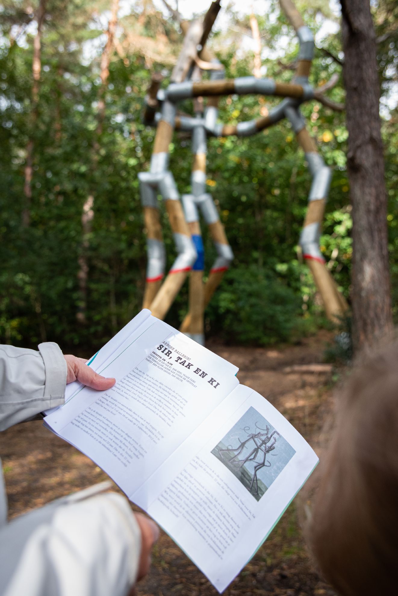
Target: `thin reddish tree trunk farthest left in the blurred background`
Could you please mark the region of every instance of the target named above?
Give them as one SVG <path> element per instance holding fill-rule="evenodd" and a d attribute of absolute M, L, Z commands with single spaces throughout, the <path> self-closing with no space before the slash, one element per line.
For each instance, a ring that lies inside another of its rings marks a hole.
<path fill-rule="evenodd" d="M 30 135 L 33 135 L 33 131 L 38 120 L 38 105 L 39 105 L 39 83 L 40 75 L 42 70 L 41 62 L 41 42 L 42 42 L 42 26 L 45 15 L 46 0 L 40 0 L 38 11 L 36 13 L 36 21 L 38 23 L 38 32 L 33 40 L 33 60 L 32 60 L 32 110 L 30 113 Z M 33 149 L 34 143 L 32 136 L 27 142 L 26 146 L 26 161 L 24 169 L 24 207 L 22 210 L 21 225 L 23 228 L 27 228 L 30 225 L 30 204 L 32 203 L 32 175 L 33 175 Z"/>

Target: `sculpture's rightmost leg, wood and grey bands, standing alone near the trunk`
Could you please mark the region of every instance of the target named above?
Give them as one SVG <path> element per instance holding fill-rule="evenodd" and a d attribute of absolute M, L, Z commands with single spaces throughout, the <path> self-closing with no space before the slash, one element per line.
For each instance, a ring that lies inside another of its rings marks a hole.
<path fill-rule="evenodd" d="M 297 135 L 297 141 L 304 150 L 309 170 L 313 180 L 309 194 L 309 205 L 303 230 L 300 235 L 300 246 L 303 250 L 303 257 L 309 265 L 325 305 L 327 316 L 332 321 L 339 321 L 347 310 L 347 303 L 338 291 L 325 259 L 319 250 L 319 236 L 321 235 L 322 218 L 324 216 L 325 203 L 327 201 L 331 171 L 319 155 L 315 142 L 308 134 L 303 117 L 297 108 L 289 107 L 286 116 L 292 123 Z"/>

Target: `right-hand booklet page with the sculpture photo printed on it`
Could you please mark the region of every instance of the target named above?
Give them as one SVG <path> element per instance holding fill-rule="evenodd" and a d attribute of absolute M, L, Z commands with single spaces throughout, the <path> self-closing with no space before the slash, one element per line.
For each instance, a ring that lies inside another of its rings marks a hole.
<path fill-rule="evenodd" d="M 282 414 L 258 393 L 238 386 L 132 500 L 222 592 L 268 536 L 317 462 Z"/>

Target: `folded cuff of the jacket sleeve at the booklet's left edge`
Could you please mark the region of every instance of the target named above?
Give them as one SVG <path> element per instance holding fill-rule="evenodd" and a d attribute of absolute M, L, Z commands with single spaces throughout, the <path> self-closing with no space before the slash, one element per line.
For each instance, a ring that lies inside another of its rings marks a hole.
<path fill-rule="evenodd" d="M 46 373 L 43 397 L 51 399 L 51 407 L 61 405 L 65 396 L 67 375 L 64 355 L 58 344 L 54 342 L 39 344 L 39 352 L 43 358 Z M 52 400 L 57 400 L 57 403 L 53 403 Z M 60 400 L 62 401 L 60 402 Z"/>

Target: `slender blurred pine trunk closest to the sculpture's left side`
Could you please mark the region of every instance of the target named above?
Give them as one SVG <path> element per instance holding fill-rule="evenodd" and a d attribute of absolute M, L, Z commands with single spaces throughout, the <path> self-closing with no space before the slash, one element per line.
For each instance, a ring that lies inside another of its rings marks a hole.
<path fill-rule="evenodd" d="M 98 151 L 100 148 L 99 137 L 102 134 L 102 126 L 105 118 L 105 92 L 109 76 L 109 64 L 111 61 L 111 53 L 114 45 L 114 34 L 117 23 L 117 11 L 119 10 L 119 0 L 112 0 L 111 5 L 111 18 L 108 23 L 107 30 L 107 43 L 105 44 L 104 51 L 101 54 L 101 86 L 99 88 L 99 101 L 98 101 L 98 113 L 97 113 L 97 129 L 95 131 L 95 139 L 92 146 L 92 170 L 94 171 L 97 167 L 98 162 Z M 79 256 L 79 271 L 77 272 L 77 281 L 79 283 L 79 307 L 77 310 L 76 318 L 82 324 L 87 321 L 87 300 L 88 300 L 88 250 L 89 250 L 89 237 L 92 232 L 92 220 L 94 219 L 94 193 L 91 193 L 82 209 L 82 245 L 80 248 Z"/>

